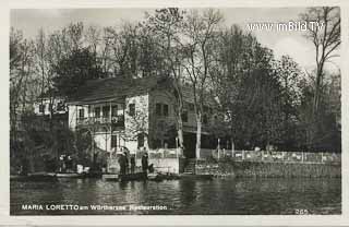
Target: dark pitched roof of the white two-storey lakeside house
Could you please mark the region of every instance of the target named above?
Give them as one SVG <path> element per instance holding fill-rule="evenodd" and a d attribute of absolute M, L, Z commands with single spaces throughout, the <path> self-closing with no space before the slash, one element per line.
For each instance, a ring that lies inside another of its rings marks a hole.
<path fill-rule="evenodd" d="M 161 81 L 160 77 L 110 77 L 87 81 L 79 87 L 69 104 L 85 104 L 98 100 L 123 100 L 125 96 L 141 95 L 149 92 Z"/>

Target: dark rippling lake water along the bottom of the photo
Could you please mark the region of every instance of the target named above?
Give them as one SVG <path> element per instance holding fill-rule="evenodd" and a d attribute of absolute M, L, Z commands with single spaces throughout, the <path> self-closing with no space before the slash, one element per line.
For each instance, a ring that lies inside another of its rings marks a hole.
<path fill-rule="evenodd" d="M 32 205 L 34 210 L 25 210 L 25 205 Z M 72 208 L 73 205 L 79 210 Z M 105 210 L 93 210 L 97 205 Z M 12 181 L 10 212 L 11 215 L 340 214 L 341 180 L 225 178 L 163 182 L 110 182 L 103 179 Z"/>

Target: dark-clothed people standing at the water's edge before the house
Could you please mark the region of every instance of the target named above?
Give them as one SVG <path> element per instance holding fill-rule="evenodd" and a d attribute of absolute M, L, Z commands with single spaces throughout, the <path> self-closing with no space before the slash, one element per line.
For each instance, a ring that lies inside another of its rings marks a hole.
<path fill-rule="evenodd" d="M 134 174 L 135 170 L 135 155 L 128 155 L 127 152 L 123 152 L 119 157 L 120 165 L 120 175 Z M 131 168 L 130 168 L 131 167 Z M 148 169 L 148 154 L 145 153 L 142 156 L 142 171 L 147 172 Z"/>

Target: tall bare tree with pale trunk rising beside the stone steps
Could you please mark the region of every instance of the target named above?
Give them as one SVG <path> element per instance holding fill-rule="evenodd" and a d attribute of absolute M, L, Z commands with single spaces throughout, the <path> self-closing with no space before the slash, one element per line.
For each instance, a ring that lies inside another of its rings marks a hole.
<path fill-rule="evenodd" d="M 214 51 L 212 47 L 221 20 L 219 11 L 209 9 L 202 15 L 191 11 L 183 26 L 183 68 L 191 82 L 196 116 L 196 158 L 200 158 L 203 112 Z"/>

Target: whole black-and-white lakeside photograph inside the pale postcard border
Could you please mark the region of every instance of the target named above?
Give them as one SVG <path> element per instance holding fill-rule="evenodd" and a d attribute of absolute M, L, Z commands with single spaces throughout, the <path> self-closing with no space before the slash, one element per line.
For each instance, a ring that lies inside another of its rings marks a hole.
<path fill-rule="evenodd" d="M 339 5 L 11 9 L 10 215 L 341 215 L 340 48 Z"/>

